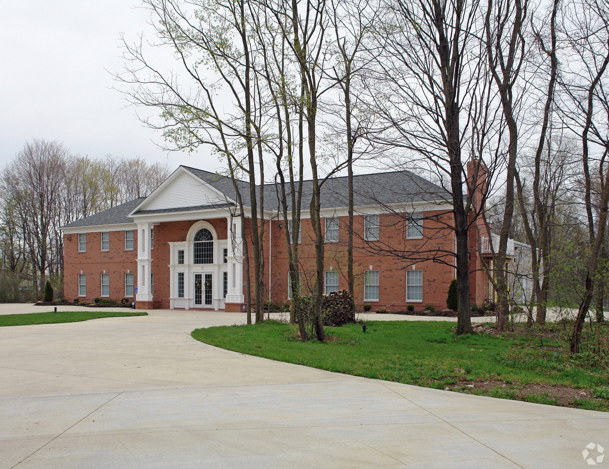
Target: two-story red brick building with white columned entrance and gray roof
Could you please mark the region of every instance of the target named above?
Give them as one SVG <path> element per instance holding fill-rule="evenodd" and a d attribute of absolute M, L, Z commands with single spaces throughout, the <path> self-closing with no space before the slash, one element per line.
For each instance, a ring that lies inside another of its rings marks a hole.
<path fill-rule="evenodd" d="M 250 217 L 249 192 L 241 192 Z M 285 230 L 291 223 L 284 224 L 276 186 L 265 185 L 264 194 L 266 297 L 284 303 L 290 296 Z M 304 210 L 310 194 L 306 182 L 299 237 L 303 294 L 311 291 L 315 273 L 314 235 Z M 229 178 L 180 166 L 150 196 L 66 225 L 65 297 L 127 297 L 138 308 L 241 310 L 247 273 L 235 199 Z M 358 305 L 394 311 L 410 304 L 446 307 L 455 275 L 450 200 L 444 189 L 408 171 L 354 177 Z M 323 185 L 322 217 L 325 289 L 331 292 L 347 288 L 347 178 Z M 470 239 L 471 302 L 479 304 L 488 297 L 488 279 L 480 270 L 477 230 Z"/>

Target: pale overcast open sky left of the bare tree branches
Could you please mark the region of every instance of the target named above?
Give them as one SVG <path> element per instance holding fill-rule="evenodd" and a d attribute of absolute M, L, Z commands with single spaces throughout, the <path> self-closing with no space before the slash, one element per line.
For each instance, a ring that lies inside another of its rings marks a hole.
<path fill-rule="evenodd" d="M 74 153 L 113 153 L 214 171 L 220 164 L 199 153 L 167 153 L 163 138 L 125 107 L 110 72 L 120 71 L 119 34 L 150 35 L 147 12 L 133 0 L 2 2 L 0 63 L 4 64 L 0 165 L 30 138 L 63 141 Z M 137 7 L 136 7 L 137 6 Z M 151 37 L 152 39 L 152 37 Z M 172 67 L 169 58 L 167 68 Z"/>

